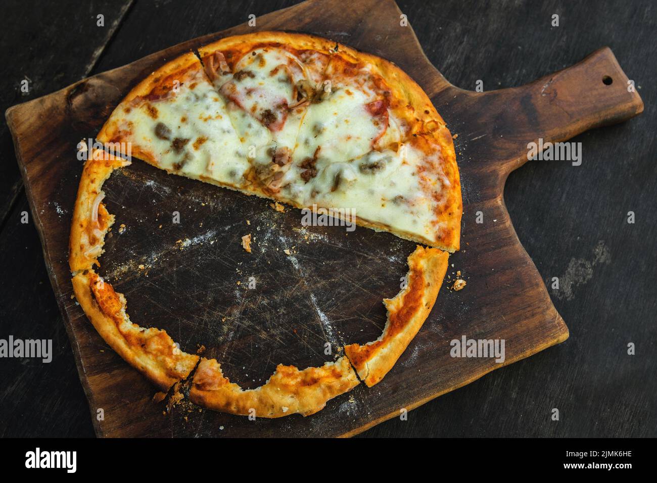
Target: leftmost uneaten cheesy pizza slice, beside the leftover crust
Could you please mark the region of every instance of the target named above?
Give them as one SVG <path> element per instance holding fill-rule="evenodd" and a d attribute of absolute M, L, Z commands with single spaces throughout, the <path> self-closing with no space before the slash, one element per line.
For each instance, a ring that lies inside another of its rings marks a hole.
<path fill-rule="evenodd" d="M 226 103 L 193 53 L 164 64 L 116 107 L 97 139 L 170 173 L 240 188 L 250 169 Z"/>

